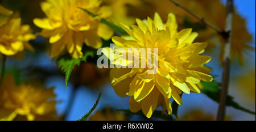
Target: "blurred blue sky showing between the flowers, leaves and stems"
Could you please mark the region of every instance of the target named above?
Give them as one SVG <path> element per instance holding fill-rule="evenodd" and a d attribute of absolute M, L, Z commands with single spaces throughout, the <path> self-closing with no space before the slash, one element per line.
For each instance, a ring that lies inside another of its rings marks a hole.
<path fill-rule="evenodd" d="M 225 1 L 222 1 L 225 3 Z M 246 19 L 247 21 L 247 29 L 251 33 L 251 35 L 254 37 L 253 39 L 253 45 L 255 47 L 255 1 L 242 1 L 242 0 L 234 0 L 234 5 L 236 6 L 237 12 Z M 248 65 L 251 67 L 254 67 L 255 69 L 255 51 L 251 53 L 253 57 L 247 57 L 247 62 L 250 62 Z M 40 61 L 41 60 L 41 61 Z M 54 62 L 51 61 L 51 58 L 48 57 L 48 54 L 43 54 L 42 58 L 39 58 L 38 61 L 44 63 L 41 63 L 40 65 L 43 66 L 49 66 L 49 65 L 55 65 Z M 236 71 L 237 67 L 232 67 L 232 71 Z M 240 67 L 242 70 L 245 70 L 246 67 Z M 213 67 L 213 70 L 215 71 L 214 74 L 221 75 L 220 66 Z M 231 71 L 231 72 L 232 72 Z M 232 73 L 233 74 L 233 73 Z M 236 74 L 234 74 L 236 75 Z M 70 96 L 69 93 L 72 90 L 72 84 L 69 83 L 69 88 L 65 88 L 64 84 L 64 76 L 55 76 L 53 78 L 49 78 L 47 80 L 47 86 L 55 86 L 56 90 L 55 93 L 57 94 L 57 100 L 59 100 L 59 103 L 57 104 L 57 112 L 59 114 L 63 113 L 65 108 L 67 107 L 68 103 L 68 97 Z M 230 89 L 230 95 L 234 95 L 234 91 L 232 91 L 232 88 Z M 114 109 L 129 109 L 129 97 L 119 97 L 117 96 L 110 83 L 106 83 L 101 87 L 102 91 L 102 97 L 100 100 L 100 103 L 98 105 L 97 109 L 104 108 L 106 105 L 113 107 Z M 78 120 L 81 118 L 84 114 L 86 114 L 90 108 L 92 108 L 93 104 L 95 103 L 98 96 L 98 90 L 92 90 L 90 88 L 86 88 L 84 86 L 79 87 L 79 90 L 76 91 L 76 97 L 75 102 L 73 103 L 73 106 L 71 108 L 71 112 L 67 117 L 67 120 Z M 179 108 L 178 115 L 182 115 L 188 110 L 191 110 L 193 108 L 200 108 L 204 110 L 206 113 L 210 113 L 213 115 L 217 114 L 217 108 L 218 104 L 210 100 L 208 97 L 206 97 L 203 93 L 191 93 L 191 95 L 184 94 L 182 96 L 183 104 Z M 236 100 L 238 103 L 240 100 Z M 249 108 L 251 110 L 255 111 L 255 104 L 254 106 L 251 105 L 243 105 L 243 107 Z M 94 111 L 95 112 L 95 111 Z M 242 112 L 237 109 L 233 108 L 227 108 L 228 116 L 232 116 L 233 120 L 255 120 L 255 115 L 247 114 L 245 112 Z"/>

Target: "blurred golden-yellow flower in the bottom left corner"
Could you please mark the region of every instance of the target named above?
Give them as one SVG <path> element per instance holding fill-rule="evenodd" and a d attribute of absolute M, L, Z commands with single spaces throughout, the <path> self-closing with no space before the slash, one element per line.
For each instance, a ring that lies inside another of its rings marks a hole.
<path fill-rule="evenodd" d="M 26 116 L 27 120 L 49 120 L 55 116 L 53 88 L 15 86 L 13 77 L 7 75 L 0 88 L 0 120 L 14 120 Z"/>

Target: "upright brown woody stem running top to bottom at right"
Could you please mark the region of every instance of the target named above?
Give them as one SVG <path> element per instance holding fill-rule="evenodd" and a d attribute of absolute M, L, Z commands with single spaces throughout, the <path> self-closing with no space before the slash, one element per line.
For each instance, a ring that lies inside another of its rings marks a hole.
<path fill-rule="evenodd" d="M 227 15 L 226 15 L 226 25 L 225 32 L 228 36 L 225 38 L 225 49 L 224 49 L 224 68 L 222 71 L 222 85 L 220 93 L 220 102 L 218 107 L 217 120 L 223 121 L 225 119 L 225 105 L 226 97 L 228 95 L 229 86 L 229 72 L 230 72 L 230 45 L 231 45 L 231 35 L 232 35 L 232 22 L 233 22 L 233 0 L 228 0 L 226 3 Z"/>

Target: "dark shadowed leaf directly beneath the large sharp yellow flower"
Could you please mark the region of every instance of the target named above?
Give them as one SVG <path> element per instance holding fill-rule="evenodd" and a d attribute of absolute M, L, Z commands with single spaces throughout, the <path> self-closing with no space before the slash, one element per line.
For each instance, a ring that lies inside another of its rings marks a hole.
<path fill-rule="evenodd" d="M 139 116 L 145 117 L 145 115 L 143 114 L 142 110 L 139 110 L 136 113 L 133 113 L 133 112 L 131 112 L 128 109 L 117 109 L 115 111 L 116 112 L 123 112 L 125 114 L 134 114 L 134 115 L 139 115 Z M 170 115 L 168 115 L 166 113 L 162 114 L 162 111 L 159 111 L 159 110 L 154 110 L 154 112 L 152 113 L 151 117 L 161 118 L 161 119 L 166 120 L 166 121 L 173 121 L 174 120 L 174 118 L 172 118 L 172 116 L 170 116 Z"/>

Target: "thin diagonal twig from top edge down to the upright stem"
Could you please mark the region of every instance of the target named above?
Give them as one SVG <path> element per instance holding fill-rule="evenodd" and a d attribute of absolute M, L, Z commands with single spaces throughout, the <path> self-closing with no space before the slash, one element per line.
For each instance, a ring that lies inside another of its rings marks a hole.
<path fill-rule="evenodd" d="M 204 18 L 202 18 L 201 16 L 197 15 L 195 12 L 189 10 L 188 8 L 186 8 L 183 5 L 180 5 L 180 3 L 177 3 L 174 0 L 169 0 L 172 3 L 174 3 L 176 6 L 179 6 L 181 8 L 183 8 L 185 11 L 187 11 L 189 14 L 195 16 L 195 18 L 199 19 L 202 23 L 204 23 L 205 25 L 208 25 L 210 28 L 214 29 L 215 31 L 217 31 L 219 34 L 223 34 L 224 32 L 221 31 L 220 29 L 218 29 L 217 27 L 215 27 L 214 25 L 210 24 L 209 22 L 207 22 L 207 20 L 205 20 Z"/>

